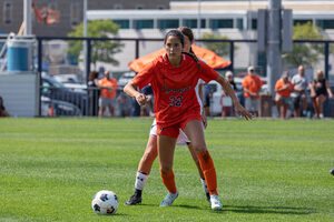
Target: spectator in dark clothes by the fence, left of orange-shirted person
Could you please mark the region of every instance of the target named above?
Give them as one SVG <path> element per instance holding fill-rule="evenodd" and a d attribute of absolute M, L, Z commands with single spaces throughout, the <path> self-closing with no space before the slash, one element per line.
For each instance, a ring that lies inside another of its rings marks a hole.
<path fill-rule="evenodd" d="M 88 75 L 88 97 L 89 97 L 89 114 L 96 117 L 98 114 L 98 98 L 100 97 L 99 87 L 99 73 L 91 71 Z"/>

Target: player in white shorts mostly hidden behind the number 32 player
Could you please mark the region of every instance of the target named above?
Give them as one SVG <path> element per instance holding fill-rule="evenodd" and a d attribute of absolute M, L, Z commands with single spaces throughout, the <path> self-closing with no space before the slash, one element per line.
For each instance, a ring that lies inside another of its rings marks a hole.
<path fill-rule="evenodd" d="M 191 29 L 189 29 L 187 27 L 180 27 L 178 30 L 183 32 L 184 38 L 185 38 L 185 46 L 184 46 L 183 51 L 194 53 L 193 50 L 191 50 L 191 44 L 195 42 L 195 39 L 194 39 L 194 33 L 193 33 Z M 196 87 L 197 88 L 196 89 L 196 94 L 197 94 L 197 99 L 198 99 L 198 102 L 199 102 L 200 108 L 202 108 L 203 122 L 204 122 L 204 125 L 206 127 L 206 117 L 205 117 L 205 113 L 203 111 L 203 104 L 202 104 L 202 101 L 203 101 L 202 85 L 203 84 L 204 84 L 204 81 L 199 80 L 198 84 Z M 144 94 L 146 94 L 146 93 L 144 93 Z M 149 99 L 150 98 L 148 97 L 148 102 L 149 102 Z M 178 145 L 188 145 L 188 149 L 189 149 L 189 151 L 191 153 L 191 157 L 193 157 L 193 159 L 196 163 L 196 167 L 198 169 L 198 173 L 199 173 L 199 176 L 200 176 L 200 182 L 203 184 L 204 192 L 206 194 L 207 200 L 209 201 L 209 198 L 210 198 L 209 191 L 207 190 L 207 185 L 206 185 L 206 182 L 205 182 L 203 171 L 200 170 L 198 158 L 195 153 L 195 150 L 193 149 L 193 145 L 191 145 L 189 139 L 184 133 L 184 131 L 179 130 L 179 135 L 177 138 L 176 143 Z M 137 171 L 137 174 L 136 174 L 136 182 L 135 182 L 135 193 L 125 203 L 125 205 L 135 205 L 135 204 L 141 203 L 141 193 L 143 193 L 144 186 L 146 184 L 146 181 L 148 179 L 148 175 L 150 173 L 151 165 L 153 165 L 154 161 L 156 160 L 157 155 L 158 155 L 157 123 L 156 123 L 156 120 L 154 120 L 154 123 L 150 128 L 150 133 L 149 133 L 148 142 L 147 142 L 147 145 L 146 145 L 146 149 L 145 149 L 145 153 L 144 153 L 144 155 L 143 155 L 140 162 L 139 162 L 139 165 L 138 165 L 138 171 Z"/>

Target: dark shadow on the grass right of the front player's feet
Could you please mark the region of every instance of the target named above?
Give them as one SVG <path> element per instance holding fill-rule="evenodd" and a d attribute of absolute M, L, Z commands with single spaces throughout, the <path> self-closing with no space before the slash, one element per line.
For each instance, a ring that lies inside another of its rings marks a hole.
<path fill-rule="evenodd" d="M 224 205 L 223 211 L 237 213 L 273 213 L 273 214 L 312 214 L 316 213 L 311 208 L 291 208 L 291 206 L 254 206 L 254 205 Z"/>

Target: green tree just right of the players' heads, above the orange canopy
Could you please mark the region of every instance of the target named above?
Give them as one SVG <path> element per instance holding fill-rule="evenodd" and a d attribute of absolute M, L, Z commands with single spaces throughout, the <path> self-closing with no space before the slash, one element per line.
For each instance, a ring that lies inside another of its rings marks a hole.
<path fill-rule="evenodd" d="M 203 33 L 202 39 L 228 40 L 228 37 L 220 37 L 214 33 Z M 229 42 L 203 42 L 203 44 L 219 57 L 226 57 L 229 54 Z M 234 50 L 237 50 L 237 47 L 234 47 Z"/>

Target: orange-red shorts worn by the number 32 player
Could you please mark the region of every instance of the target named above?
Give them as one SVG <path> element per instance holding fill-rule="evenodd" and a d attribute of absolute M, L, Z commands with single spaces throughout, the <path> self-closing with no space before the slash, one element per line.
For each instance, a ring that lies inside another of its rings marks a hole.
<path fill-rule="evenodd" d="M 185 127 L 187 125 L 187 123 L 190 120 L 202 121 L 202 117 L 200 115 L 195 115 L 195 114 L 194 115 L 188 115 L 181 122 L 178 122 L 174 125 L 170 125 L 170 127 L 168 125 L 168 127 L 165 127 L 165 128 L 161 128 L 159 124 L 157 124 L 157 134 L 167 135 L 167 137 L 177 139 L 178 133 L 179 133 L 179 129 L 184 130 Z"/>

